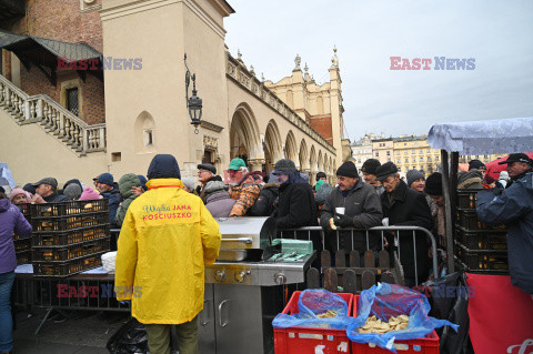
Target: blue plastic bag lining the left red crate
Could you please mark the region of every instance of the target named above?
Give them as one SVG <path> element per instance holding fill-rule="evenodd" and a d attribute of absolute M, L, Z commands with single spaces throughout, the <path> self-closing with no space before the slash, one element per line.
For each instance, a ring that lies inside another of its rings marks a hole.
<path fill-rule="evenodd" d="M 320 318 L 318 315 L 332 310 L 336 316 Z M 353 321 L 348 313 L 348 304 L 341 296 L 322 289 L 305 290 L 298 300 L 298 313 L 293 315 L 280 313 L 272 321 L 274 328 L 293 326 L 344 330 Z"/>

